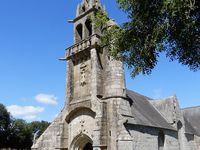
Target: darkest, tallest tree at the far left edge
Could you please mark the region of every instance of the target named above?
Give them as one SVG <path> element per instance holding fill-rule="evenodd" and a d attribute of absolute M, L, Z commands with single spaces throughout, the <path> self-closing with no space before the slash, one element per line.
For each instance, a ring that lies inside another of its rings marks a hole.
<path fill-rule="evenodd" d="M 5 106 L 0 104 L 0 148 L 7 147 L 10 122 L 10 114 Z"/>

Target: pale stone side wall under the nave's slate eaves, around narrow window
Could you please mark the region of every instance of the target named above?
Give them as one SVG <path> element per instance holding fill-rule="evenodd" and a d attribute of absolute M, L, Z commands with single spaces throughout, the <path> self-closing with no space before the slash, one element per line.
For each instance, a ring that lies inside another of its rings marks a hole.
<path fill-rule="evenodd" d="M 137 125 L 126 126 L 127 130 L 133 137 L 133 150 L 158 150 L 158 134 L 162 130 L 164 133 L 164 147 L 163 150 L 178 150 L 179 142 L 176 131 L 144 127 Z M 125 149 L 120 149 L 125 150 Z"/>

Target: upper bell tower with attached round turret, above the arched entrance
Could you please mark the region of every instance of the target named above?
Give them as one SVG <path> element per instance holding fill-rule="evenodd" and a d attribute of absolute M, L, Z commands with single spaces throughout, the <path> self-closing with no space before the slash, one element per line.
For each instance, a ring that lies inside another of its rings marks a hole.
<path fill-rule="evenodd" d="M 125 96 L 123 64 L 112 60 L 100 46 L 100 29 L 91 18 L 102 10 L 100 0 L 78 4 L 74 23 L 74 45 L 66 49 L 68 62 L 66 105 L 93 98 Z"/>

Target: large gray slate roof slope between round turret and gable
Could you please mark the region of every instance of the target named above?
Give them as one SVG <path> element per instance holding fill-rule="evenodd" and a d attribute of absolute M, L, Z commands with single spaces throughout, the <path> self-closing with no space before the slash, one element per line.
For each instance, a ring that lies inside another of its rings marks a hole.
<path fill-rule="evenodd" d="M 127 97 L 132 101 L 131 111 L 134 119 L 129 119 L 129 124 L 157 127 L 162 129 L 174 129 L 149 102 L 152 100 L 134 91 L 127 90 Z"/>

